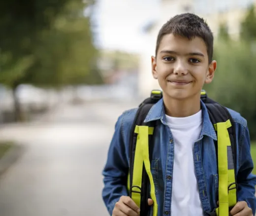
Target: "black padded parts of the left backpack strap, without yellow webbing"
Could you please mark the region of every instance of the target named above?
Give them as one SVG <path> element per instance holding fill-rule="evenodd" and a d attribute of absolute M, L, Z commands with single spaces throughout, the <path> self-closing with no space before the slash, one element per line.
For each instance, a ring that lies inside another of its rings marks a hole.
<path fill-rule="evenodd" d="M 134 156 L 135 156 L 135 149 L 136 149 L 136 140 L 137 140 L 137 133 L 135 133 L 135 127 L 138 126 L 149 126 L 149 127 L 155 127 L 156 121 L 151 121 L 148 123 L 144 123 L 144 120 L 146 116 L 148 115 L 149 110 L 153 107 L 154 104 L 156 104 L 162 97 L 162 94 L 160 91 L 153 90 L 151 93 L 151 97 L 144 100 L 140 105 L 136 112 L 131 131 L 130 131 L 130 145 L 129 145 L 129 157 L 130 157 L 130 191 L 129 196 L 131 197 L 132 190 L 132 178 L 133 178 L 133 164 L 134 164 Z M 149 135 L 149 159 L 152 160 L 152 151 L 153 151 L 153 135 Z M 142 185 L 141 185 L 141 203 L 140 203 L 140 215 L 141 216 L 147 216 L 149 213 L 149 206 L 148 206 L 148 198 L 150 197 L 150 184 L 149 184 L 149 178 L 145 169 L 145 166 L 143 165 L 143 171 L 142 171 Z"/>

